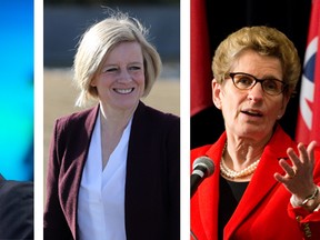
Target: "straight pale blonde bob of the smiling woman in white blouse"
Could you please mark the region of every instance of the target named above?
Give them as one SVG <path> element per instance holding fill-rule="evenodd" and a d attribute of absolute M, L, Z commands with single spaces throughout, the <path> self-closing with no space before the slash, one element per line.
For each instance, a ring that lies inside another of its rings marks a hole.
<path fill-rule="evenodd" d="M 90 27 L 79 41 L 73 61 L 73 80 L 80 89 L 76 106 L 84 107 L 90 98 L 98 99 L 97 88 L 90 83 L 108 53 L 121 42 L 138 42 L 141 46 L 146 79 L 143 97 L 148 96 L 161 72 L 162 62 L 147 37 L 148 30 L 139 20 L 121 12 Z"/>

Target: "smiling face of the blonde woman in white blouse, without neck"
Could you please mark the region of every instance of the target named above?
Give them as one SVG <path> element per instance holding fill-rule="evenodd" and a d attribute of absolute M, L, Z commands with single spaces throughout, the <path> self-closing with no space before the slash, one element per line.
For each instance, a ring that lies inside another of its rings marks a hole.
<path fill-rule="evenodd" d="M 136 108 L 144 91 L 144 66 L 138 42 L 121 42 L 107 56 L 91 82 L 100 102 L 112 109 Z"/>

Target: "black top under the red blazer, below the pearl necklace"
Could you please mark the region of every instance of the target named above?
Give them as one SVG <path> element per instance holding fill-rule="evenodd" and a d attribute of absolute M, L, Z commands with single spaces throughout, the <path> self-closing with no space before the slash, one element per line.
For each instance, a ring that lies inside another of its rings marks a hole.
<path fill-rule="evenodd" d="M 218 230 L 219 239 L 223 239 L 223 229 L 233 214 L 239 201 L 241 200 L 249 182 L 234 182 L 220 176 L 220 199 Z"/>

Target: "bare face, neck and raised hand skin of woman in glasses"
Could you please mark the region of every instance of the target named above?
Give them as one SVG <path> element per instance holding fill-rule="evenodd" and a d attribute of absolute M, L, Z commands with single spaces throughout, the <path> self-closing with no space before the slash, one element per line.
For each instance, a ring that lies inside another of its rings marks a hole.
<path fill-rule="evenodd" d="M 246 72 L 259 79 L 282 79 L 279 59 L 260 56 L 252 50 L 242 52 L 230 72 Z M 276 121 L 284 114 L 289 99 L 283 93 L 268 96 L 260 83 L 250 90 L 239 90 L 231 78 L 227 78 L 221 84 L 216 79 L 212 80 L 212 100 L 224 119 L 228 142 L 223 158 L 230 169 L 240 171 L 260 159 L 264 146 L 272 137 Z M 298 153 L 288 149 L 291 166 L 282 159 L 279 164 L 286 174 L 274 173 L 276 180 L 299 200 L 310 196 L 316 188 L 312 179 L 314 147 L 316 142 L 311 142 L 307 149 L 300 143 Z M 297 170 L 294 178 L 293 169 Z M 251 177 L 233 181 L 250 181 Z"/>

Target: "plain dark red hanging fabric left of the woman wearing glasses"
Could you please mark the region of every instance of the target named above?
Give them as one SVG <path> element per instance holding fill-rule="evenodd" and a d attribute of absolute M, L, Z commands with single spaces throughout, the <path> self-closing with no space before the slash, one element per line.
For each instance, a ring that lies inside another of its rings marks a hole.
<path fill-rule="evenodd" d="M 206 0 L 191 0 L 191 116 L 212 106 Z"/>

